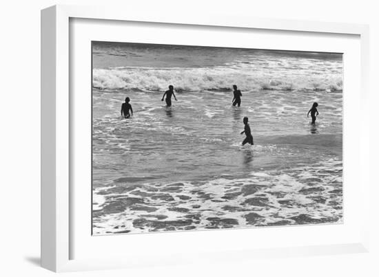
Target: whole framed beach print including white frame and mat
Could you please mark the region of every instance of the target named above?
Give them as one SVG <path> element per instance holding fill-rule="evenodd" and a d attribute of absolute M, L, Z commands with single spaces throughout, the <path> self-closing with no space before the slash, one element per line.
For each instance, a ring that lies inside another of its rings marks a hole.
<path fill-rule="evenodd" d="M 43 267 L 367 251 L 367 36 L 43 10 Z"/>

